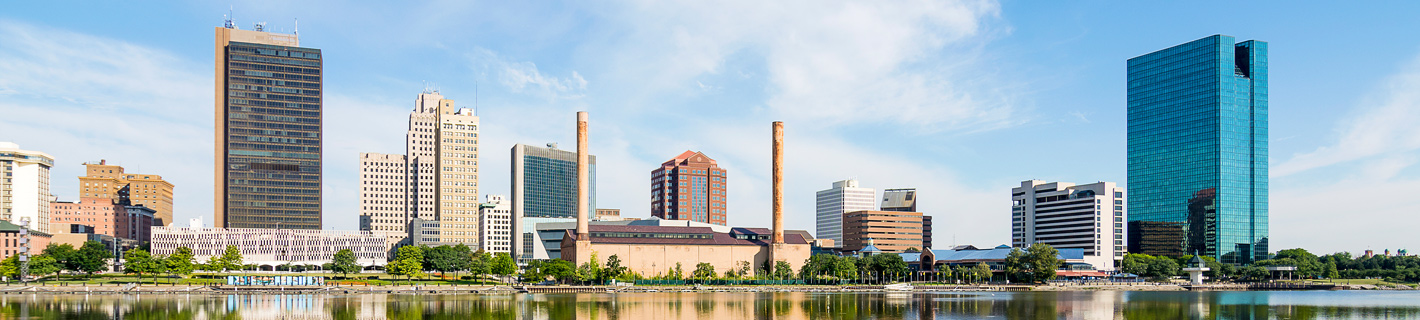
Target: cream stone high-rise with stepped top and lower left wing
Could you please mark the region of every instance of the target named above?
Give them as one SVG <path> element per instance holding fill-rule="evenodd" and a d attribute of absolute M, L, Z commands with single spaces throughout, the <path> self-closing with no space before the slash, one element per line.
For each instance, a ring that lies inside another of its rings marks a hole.
<path fill-rule="evenodd" d="M 439 242 L 479 243 L 479 117 L 425 90 L 415 98 L 405 154 L 361 154 L 361 230 L 392 243 L 413 219 L 439 225 Z"/>

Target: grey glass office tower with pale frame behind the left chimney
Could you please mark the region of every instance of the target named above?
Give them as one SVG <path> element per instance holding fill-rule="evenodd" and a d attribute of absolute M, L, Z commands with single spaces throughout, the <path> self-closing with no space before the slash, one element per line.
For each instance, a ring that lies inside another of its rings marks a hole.
<path fill-rule="evenodd" d="M 518 259 L 531 259 L 535 243 L 535 223 L 574 222 L 577 219 L 577 152 L 562 151 L 557 144 L 547 148 L 513 145 L 513 250 Z M 586 155 L 591 208 L 596 208 L 596 155 Z M 589 213 L 591 215 L 591 213 Z"/>

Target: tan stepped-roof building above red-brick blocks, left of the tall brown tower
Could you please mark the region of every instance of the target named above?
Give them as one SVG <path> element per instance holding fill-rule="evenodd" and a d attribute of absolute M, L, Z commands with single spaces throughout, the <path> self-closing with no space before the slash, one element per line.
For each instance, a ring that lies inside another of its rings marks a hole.
<path fill-rule="evenodd" d="M 118 201 L 119 191 L 128 186 L 128 202 L 153 209 L 153 225 L 166 226 L 173 222 L 173 183 L 160 175 L 128 174 L 124 166 L 84 164 L 85 175 L 80 176 L 80 198 Z"/>

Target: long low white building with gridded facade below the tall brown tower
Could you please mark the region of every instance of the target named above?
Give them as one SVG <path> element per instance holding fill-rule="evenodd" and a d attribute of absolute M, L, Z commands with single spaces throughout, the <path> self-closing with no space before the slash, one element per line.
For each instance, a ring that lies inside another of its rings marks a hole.
<path fill-rule="evenodd" d="M 349 249 L 361 266 L 383 266 L 388 260 L 385 238 L 368 230 L 251 229 L 251 228 L 173 228 L 153 226 L 153 255 L 173 255 L 189 247 L 197 262 L 222 256 L 227 246 L 241 250 L 244 265 L 324 265 L 335 253 Z"/>

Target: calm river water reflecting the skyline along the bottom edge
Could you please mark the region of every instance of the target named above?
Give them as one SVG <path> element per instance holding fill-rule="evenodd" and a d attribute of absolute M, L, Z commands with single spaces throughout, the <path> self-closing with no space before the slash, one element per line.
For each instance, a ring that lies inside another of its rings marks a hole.
<path fill-rule="evenodd" d="M 1420 319 L 1420 292 L 4 294 L 0 319 Z"/>

